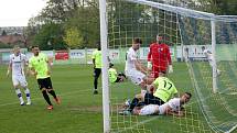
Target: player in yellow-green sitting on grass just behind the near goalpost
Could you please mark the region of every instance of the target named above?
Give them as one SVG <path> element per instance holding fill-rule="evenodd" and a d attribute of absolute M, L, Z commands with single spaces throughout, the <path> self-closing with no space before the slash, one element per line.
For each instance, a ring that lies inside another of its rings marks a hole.
<path fill-rule="evenodd" d="M 117 70 L 112 68 L 114 64 L 109 63 L 109 82 L 122 82 L 126 79 L 126 75 L 122 73 L 117 74 Z"/>

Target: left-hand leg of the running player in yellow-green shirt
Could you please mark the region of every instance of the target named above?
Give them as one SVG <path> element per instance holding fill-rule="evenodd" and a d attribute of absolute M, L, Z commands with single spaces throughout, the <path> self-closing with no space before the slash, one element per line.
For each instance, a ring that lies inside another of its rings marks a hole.
<path fill-rule="evenodd" d="M 53 109 L 53 104 L 52 104 L 52 102 L 51 102 L 51 100 L 50 100 L 50 97 L 49 97 L 49 95 L 47 95 L 47 91 L 46 91 L 45 79 L 37 79 L 37 84 L 39 84 L 39 87 L 40 87 L 40 89 L 41 89 L 41 91 L 42 91 L 42 95 L 43 95 L 43 97 L 44 97 L 44 100 L 45 100 L 45 101 L 47 102 L 47 104 L 49 104 L 47 109 L 49 109 L 49 110 L 52 110 L 52 109 Z"/>

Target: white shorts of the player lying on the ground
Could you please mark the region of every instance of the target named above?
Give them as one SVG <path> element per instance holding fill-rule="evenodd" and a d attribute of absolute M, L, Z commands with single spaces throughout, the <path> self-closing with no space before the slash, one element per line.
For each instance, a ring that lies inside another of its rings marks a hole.
<path fill-rule="evenodd" d="M 158 113 L 159 113 L 158 104 L 148 104 L 140 110 L 139 115 L 150 115 L 150 114 L 158 114 Z"/>

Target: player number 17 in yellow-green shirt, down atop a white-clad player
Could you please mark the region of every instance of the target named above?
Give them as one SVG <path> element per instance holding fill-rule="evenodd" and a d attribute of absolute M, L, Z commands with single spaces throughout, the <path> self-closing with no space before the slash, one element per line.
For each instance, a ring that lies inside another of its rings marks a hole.
<path fill-rule="evenodd" d="M 174 84 L 165 77 L 165 71 L 159 73 L 159 76 L 152 85 L 150 85 L 150 92 L 139 93 L 129 104 L 129 108 L 123 110 L 120 114 L 131 114 L 136 107 L 142 104 L 158 104 L 161 106 L 168 102 L 171 98 L 177 95 Z"/>

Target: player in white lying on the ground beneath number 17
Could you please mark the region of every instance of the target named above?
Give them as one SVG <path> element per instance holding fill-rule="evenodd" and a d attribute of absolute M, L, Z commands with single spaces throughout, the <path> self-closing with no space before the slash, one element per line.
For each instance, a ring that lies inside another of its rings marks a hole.
<path fill-rule="evenodd" d="M 190 92 L 185 92 L 180 98 L 173 98 L 162 106 L 148 104 L 140 109 L 136 108 L 133 110 L 133 114 L 138 114 L 138 115 L 170 114 L 170 115 L 182 117 L 184 115 L 183 104 L 187 103 L 191 97 L 192 95 Z"/>

